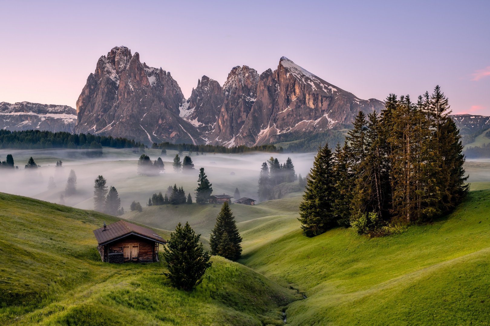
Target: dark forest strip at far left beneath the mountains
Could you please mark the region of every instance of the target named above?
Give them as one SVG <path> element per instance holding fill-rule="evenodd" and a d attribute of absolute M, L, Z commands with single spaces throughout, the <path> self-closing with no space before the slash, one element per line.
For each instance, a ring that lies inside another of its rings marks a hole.
<path fill-rule="evenodd" d="M 112 136 L 95 136 L 90 133 L 71 134 L 70 132 L 51 132 L 40 130 L 10 131 L 0 130 L 0 149 L 98 149 L 101 146 L 114 148 L 140 147 L 134 140 Z"/>

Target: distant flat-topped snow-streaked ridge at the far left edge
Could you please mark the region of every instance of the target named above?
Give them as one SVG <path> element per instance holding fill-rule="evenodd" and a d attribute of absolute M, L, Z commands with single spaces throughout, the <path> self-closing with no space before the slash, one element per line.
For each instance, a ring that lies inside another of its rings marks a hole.
<path fill-rule="evenodd" d="M 75 124 L 76 110 L 66 105 L 0 103 L 0 129 L 72 132 Z"/>

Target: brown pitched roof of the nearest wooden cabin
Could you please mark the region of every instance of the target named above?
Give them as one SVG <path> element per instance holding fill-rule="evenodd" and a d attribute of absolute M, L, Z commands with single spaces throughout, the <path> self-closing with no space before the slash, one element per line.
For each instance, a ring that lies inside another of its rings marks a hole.
<path fill-rule="evenodd" d="M 131 234 L 134 234 L 141 238 L 150 239 L 161 244 L 167 243 L 165 239 L 163 239 L 150 229 L 126 221 L 118 221 L 116 223 L 109 224 L 107 225 L 105 231 L 104 228 L 101 227 L 97 230 L 94 230 L 94 234 L 99 245 L 106 244 L 107 242 L 111 242 L 116 239 L 127 237 Z"/>

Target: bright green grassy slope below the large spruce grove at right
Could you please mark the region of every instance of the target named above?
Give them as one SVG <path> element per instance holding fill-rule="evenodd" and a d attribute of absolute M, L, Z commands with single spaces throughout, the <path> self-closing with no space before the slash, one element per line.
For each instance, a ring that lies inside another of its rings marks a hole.
<path fill-rule="evenodd" d="M 242 222 L 241 262 L 306 294 L 292 325 L 489 325 L 489 203 L 471 192 L 447 218 L 376 239 L 306 238 L 292 217 Z"/>

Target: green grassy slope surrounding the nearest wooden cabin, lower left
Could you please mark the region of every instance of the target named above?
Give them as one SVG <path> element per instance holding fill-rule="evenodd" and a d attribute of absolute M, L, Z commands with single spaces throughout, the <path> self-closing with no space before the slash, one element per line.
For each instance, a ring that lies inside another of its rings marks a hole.
<path fill-rule="evenodd" d="M 0 193 L 0 324 L 282 325 L 293 291 L 238 263 L 214 257 L 191 293 L 163 263 L 102 263 L 92 230 L 118 219 Z"/>

